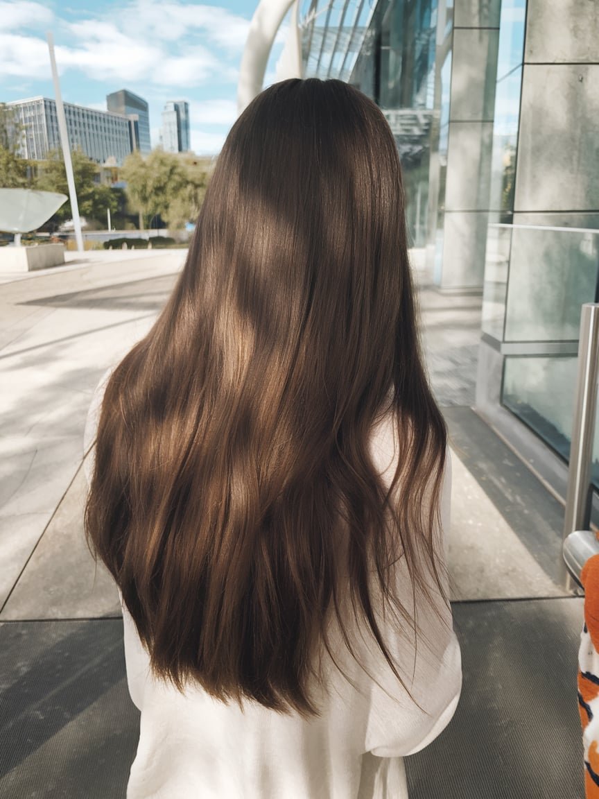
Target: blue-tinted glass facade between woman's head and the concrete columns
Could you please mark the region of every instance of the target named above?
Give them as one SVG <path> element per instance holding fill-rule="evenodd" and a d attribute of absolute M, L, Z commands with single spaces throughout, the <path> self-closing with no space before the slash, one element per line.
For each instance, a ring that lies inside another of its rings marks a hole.
<path fill-rule="evenodd" d="M 437 0 L 304 4 L 306 77 L 339 78 L 383 109 L 402 159 L 407 224 L 426 243 Z"/>

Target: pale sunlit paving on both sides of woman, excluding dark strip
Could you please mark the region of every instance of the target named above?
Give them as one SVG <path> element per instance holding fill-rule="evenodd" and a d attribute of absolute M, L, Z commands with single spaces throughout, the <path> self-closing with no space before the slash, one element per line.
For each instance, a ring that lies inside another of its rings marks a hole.
<path fill-rule="evenodd" d="M 0 286 L 0 621 L 118 614 L 82 535 L 85 415 L 102 373 L 153 324 L 183 259 L 85 253 Z M 470 410 L 481 298 L 444 296 L 424 272 L 419 284 L 426 360 L 454 450 L 454 598 L 564 595 L 561 507 Z"/>

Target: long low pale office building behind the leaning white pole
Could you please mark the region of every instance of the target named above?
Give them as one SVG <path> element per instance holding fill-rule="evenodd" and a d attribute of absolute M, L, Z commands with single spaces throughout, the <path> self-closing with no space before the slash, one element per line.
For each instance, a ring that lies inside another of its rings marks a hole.
<path fill-rule="evenodd" d="M 7 103 L 16 109 L 22 137 L 18 153 L 22 158 L 42 161 L 51 150 L 61 147 L 56 102 L 32 97 Z M 113 158 L 121 165 L 131 153 L 129 120 L 121 114 L 97 111 L 65 102 L 66 129 L 71 149 L 103 164 Z"/>

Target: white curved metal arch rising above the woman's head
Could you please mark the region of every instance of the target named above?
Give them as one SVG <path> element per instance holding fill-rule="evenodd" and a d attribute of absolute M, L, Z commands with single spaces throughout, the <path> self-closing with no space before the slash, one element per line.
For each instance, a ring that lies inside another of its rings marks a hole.
<path fill-rule="evenodd" d="M 248 106 L 264 85 L 264 74 L 268 56 L 275 42 L 276 33 L 288 10 L 295 6 L 289 26 L 288 40 L 277 64 L 276 78 L 302 77 L 302 58 L 300 32 L 297 25 L 297 6 L 299 0 L 260 0 L 252 17 L 241 58 L 240 78 L 237 85 L 237 113 Z"/>

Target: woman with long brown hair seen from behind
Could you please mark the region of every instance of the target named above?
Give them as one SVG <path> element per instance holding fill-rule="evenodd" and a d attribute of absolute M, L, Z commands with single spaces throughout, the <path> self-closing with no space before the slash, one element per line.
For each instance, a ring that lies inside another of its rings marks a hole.
<path fill-rule="evenodd" d="M 449 483 L 391 131 L 340 81 L 273 85 L 101 404 L 86 532 L 141 710 L 129 799 L 407 796 L 461 686 Z"/>

